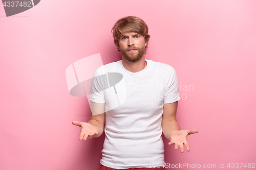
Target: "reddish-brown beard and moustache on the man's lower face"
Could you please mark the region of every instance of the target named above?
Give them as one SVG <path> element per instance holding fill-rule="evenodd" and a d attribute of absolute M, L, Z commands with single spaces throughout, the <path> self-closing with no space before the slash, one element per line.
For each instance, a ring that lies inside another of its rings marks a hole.
<path fill-rule="evenodd" d="M 134 51 L 134 52 L 127 52 L 127 50 L 130 50 L 130 49 L 136 49 L 137 52 L 136 51 Z M 136 62 L 139 59 L 141 59 L 144 53 L 145 53 L 145 47 L 142 47 L 142 48 L 132 47 L 132 48 L 125 48 L 125 49 L 121 50 L 122 56 L 126 60 L 131 61 L 131 62 Z"/>

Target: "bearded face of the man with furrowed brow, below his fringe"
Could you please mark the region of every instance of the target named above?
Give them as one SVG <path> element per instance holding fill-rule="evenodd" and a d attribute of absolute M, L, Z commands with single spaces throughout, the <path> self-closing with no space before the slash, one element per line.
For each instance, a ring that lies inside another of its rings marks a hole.
<path fill-rule="evenodd" d="M 145 39 L 142 35 L 134 32 L 125 32 L 119 40 L 119 49 L 122 56 L 131 62 L 141 59 L 145 53 Z"/>

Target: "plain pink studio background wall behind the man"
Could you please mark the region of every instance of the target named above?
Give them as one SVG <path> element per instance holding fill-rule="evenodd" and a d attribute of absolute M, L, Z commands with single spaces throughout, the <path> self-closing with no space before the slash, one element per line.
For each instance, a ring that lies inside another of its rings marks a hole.
<path fill-rule="evenodd" d="M 255 9 L 255 0 L 42 0 L 6 17 L 1 4 L 0 168 L 99 169 L 104 135 L 78 139 L 72 121 L 87 122 L 90 107 L 69 94 L 65 70 L 97 53 L 120 60 L 111 28 L 128 15 L 149 27 L 145 58 L 177 72 L 181 128 L 199 130 L 183 154 L 164 138 L 165 162 L 256 163 Z"/>

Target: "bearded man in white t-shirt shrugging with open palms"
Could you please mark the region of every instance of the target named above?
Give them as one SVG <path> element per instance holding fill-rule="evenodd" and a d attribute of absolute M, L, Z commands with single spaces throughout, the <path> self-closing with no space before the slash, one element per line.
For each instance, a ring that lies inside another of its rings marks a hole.
<path fill-rule="evenodd" d="M 112 28 L 115 45 L 122 60 L 101 66 L 95 76 L 119 72 L 125 82 L 127 99 L 120 106 L 93 114 L 88 123 L 73 121 L 81 127 L 80 140 L 99 137 L 105 140 L 100 169 L 165 169 L 162 132 L 184 152 L 187 135 L 198 130 L 180 130 L 176 120 L 179 92 L 173 67 L 145 60 L 148 40 L 146 23 L 135 16 L 119 19 Z M 99 82 L 93 82 L 96 85 Z M 122 90 L 113 87 L 116 94 Z M 113 90 L 113 89 L 112 89 Z M 111 89 L 91 94 L 92 105 L 108 108 L 113 99 Z M 91 106 L 92 108 L 92 106 Z M 160 167 L 159 167 L 160 166 Z"/>

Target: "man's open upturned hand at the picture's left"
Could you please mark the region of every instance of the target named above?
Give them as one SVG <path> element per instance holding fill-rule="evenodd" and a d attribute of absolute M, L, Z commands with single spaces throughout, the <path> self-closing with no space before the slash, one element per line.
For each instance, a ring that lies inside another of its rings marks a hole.
<path fill-rule="evenodd" d="M 81 128 L 79 140 L 86 140 L 87 138 L 91 139 L 92 137 L 98 135 L 97 129 L 89 123 L 73 121 L 72 124 Z"/>

